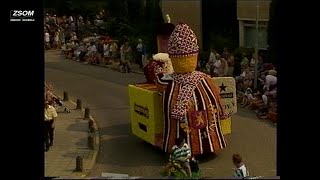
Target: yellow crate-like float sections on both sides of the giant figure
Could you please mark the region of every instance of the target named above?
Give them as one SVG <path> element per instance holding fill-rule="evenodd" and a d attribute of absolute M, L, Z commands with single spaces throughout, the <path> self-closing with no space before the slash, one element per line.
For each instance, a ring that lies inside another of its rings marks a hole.
<path fill-rule="evenodd" d="M 231 77 L 213 78 L 220 88 L 220 96 L 227 119 L 221 120 L 224 135 L 232 131 L 232 115 L 237 112 L 235 80 Z M 132 133 L 140 139 L 162 148 L 163 146 L 163 104 L 157 85 L 140 83 L 129 85 L 130 118 Z"/>

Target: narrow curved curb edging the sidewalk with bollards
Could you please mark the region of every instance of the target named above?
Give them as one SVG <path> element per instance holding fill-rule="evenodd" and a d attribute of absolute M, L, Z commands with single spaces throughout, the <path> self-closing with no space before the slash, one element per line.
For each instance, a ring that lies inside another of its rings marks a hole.
<path fill-rule="evenodd" d="M 74 101 L 72 101 L 72 100 L 70 100 L 69 99 L 69 102 L 70 103 L 72 103 L 72 104 L 74 104 L 74 105 L 77 105 L 77 103 L 75 103 Z M 85 111 L 85 109 L 84 108 L 81 108 L 81 111 L 82 112 L 84 112 Z M 93 169 L 93 167 L 94 167 L 94 165 L 96 164 L 96 160 L 97 160 L 97 157 L 98 157 L 98 153 L 99 153 L 99 150 L 100 150 L 100 133 L 99 133 L 99 127 L 98 127 L 98 125 L 97 125 L 97 122 L 92 118 L 92 116 L 90 115 L 89 116 L 89 118 L 94 122 L 93 123 L 93 126 L 94 126 L 94 129 L 95 129 L 95 148 L 94 148 L 94 152 L 93 152 L 93 157 L 92 157 L 92 159 L 91 159 L 91 162 L 90 162 L 90 164 L 89 164 L 89 167 L 88 167 L 88 172 L 84 172 L 83 174 L 82 174 L 82 178 L 84 178 L 84 177 L 87 177 L 89 174 L 90 174 L 90 172 L 91 172 L 91 170 Z"/>

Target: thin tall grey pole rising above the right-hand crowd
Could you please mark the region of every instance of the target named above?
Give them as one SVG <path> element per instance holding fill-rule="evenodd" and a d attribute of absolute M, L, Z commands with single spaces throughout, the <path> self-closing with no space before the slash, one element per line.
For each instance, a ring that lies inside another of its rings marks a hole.
<path fill-rule="evenodd" d="M 259 14 L 260 14 L 260 0 L 257 1 L 257 15 L 256 15 L 256 59 L 254 66 L 254 89 L 257 89 L 258 86 L 258 59 L 259 59 Z"/>

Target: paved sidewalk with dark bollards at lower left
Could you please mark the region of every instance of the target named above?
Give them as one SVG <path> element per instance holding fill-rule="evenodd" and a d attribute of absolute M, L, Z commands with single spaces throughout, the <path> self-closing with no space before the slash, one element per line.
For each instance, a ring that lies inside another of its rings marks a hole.
<path fill-rule="evenodd" d="M 95 164 L 99 150 L 99 134 L 96 128 L 94 150 L 87 146 L 88 120 L 84 120 L 84 112 L 75 110 L 76 105 L 65 102 L 71 113 L 58 108 L 53 146 L 45 152 L 45 177 L 85 177 Z M 83 172 L 74 172 L 76 158 L 83 158 Z"/>

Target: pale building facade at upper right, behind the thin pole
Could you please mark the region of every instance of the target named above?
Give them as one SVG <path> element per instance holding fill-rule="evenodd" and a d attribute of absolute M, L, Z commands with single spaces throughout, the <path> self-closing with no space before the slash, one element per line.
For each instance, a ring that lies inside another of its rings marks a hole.
<path fill-rule="evenodd" d="M 267 49 L 267 26 L 271 0 L 237 0 L 239 21 L 239 46 L 252 48 L 256 45 L 256 22 L 258 21 L 258 47 Z"/>

